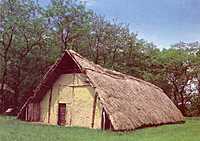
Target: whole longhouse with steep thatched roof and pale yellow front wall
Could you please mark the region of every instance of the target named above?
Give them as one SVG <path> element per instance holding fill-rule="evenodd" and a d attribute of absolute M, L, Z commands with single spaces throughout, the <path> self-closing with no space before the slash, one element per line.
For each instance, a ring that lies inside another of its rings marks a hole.
<path fill-rule="evenodd" d="M 184 121 L 160 88 L 102 68 L 71 50 L 52 65 L 18 118 L 115 131 Z"/>

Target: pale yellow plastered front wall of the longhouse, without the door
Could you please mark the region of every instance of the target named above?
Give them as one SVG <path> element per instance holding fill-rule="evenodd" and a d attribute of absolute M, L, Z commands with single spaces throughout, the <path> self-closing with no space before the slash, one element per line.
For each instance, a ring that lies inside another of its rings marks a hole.
<path fill-rule="evenodd" d="M 50 108 L 50 123 L 58 121 L 58 104 L 66 104 L 66 126 L 91 127 L 94 102 L 94 88 L 89 84 L 84 74 L 63 74 L 54 83 Z M 40 103 L 40 119 L 48 123 L 50 91 Z M 97 100 L 94 128 L 101 127 L 101 107 Z"/>

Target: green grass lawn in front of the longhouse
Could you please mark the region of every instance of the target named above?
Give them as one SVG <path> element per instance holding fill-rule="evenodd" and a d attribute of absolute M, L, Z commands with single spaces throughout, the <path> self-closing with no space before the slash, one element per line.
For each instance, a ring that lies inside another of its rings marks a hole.
<path fill-rule="evenodd" d="M 200 141 L 200 118 L 128 133 L 78 127 L 33 125 L 0 116 L 0 141 Z"/>

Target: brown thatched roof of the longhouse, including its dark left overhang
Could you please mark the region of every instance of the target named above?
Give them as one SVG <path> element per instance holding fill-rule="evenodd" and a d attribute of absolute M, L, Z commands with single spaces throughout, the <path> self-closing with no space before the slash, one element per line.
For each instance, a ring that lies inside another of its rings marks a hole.
<path fill-rule="evenodd" d="M 66 56 L 71 57 L 77 65 L 76 72 L 84 72 L 88 76 L 109 115 L 114 130 L 132 130 L 184 121 L 181 112 L 162 89 L 133 76 L 102 68 L 74 51 L 66 51 L 65 55 L 48 71 L 37 87 L 32 97 L 33 101 L 38 97 L 42 98 L 51 87 L 52 84 L 46 82 L 50 77 L 58 77 L 56 68 L 60 67 L 62 61 L 68 61 L 66 59 L 69 58 Z"/>

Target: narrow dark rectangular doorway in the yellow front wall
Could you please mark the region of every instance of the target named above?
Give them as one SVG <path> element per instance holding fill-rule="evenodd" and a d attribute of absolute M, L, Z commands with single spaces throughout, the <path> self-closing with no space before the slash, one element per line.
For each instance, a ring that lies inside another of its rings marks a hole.
<path fill-rule="evenodd" d="M 58 125 L 64 126 L 66 124 L 66 104 L 58 104 Z"/>

